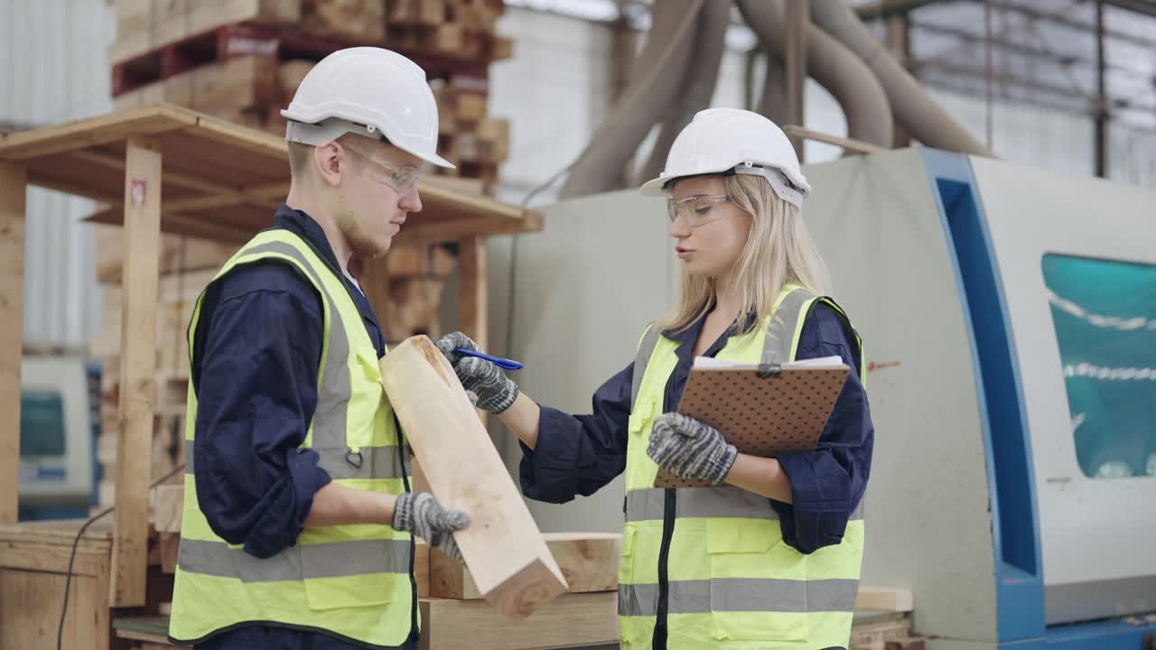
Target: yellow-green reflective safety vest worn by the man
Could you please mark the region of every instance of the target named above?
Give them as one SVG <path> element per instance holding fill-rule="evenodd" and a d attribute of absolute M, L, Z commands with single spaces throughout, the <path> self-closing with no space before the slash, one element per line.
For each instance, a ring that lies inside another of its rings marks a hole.
<path fill-rule="evenodd" d="M 321 296 L 324 338 L 318 401 L 301 449 L 320 456 L 333 482 L 387 494 L 409 489 L 377 352 L 338 272 L 283 229 L 253 237 L 217 273 L 279 260 Z M 201 298 L 203 298 L 203 293 Z M 197 301 L 188 350 L 200 317 Z M 306 527 L 297 544 L 260 560 L 213 533 L 197 502 L 192 382 L 185 419 L 185 510 L 169 636 L 181 643 L 246 623 L 316 629 L 369 645 L 400 645 L 417 629 L 414 540 L 387 525 Z"/>

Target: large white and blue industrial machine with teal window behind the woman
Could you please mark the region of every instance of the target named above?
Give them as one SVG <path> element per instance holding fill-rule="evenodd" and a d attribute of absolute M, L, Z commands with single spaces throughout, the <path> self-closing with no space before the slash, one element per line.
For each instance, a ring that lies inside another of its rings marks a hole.
<path fill-rule="evenodd" d="M 862 584 L 911 589 L 932 650 L 1156 648 L 1156 192 L 920 148 L 805 172 L 869 362 Z M 635 191 L 546 215 L 496 352 L 586 413 L 677 260 Z M 620 481 L 532 508 L 544 530 L 615 530 Z"/>

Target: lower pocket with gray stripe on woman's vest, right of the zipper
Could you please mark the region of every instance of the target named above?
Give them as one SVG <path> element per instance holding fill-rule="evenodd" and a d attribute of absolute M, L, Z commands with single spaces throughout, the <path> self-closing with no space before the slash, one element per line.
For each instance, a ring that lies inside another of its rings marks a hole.
<path fill-rule="evenodd" d="M 808 641 L 807 559 L 783 542 L 778 522 L 706 524 L 714 638 Z"/>

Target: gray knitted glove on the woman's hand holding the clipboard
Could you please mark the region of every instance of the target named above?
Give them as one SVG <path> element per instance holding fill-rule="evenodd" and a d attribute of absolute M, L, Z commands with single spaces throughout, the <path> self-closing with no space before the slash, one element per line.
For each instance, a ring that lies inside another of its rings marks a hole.
<path fill-rule="evenodd" d="M 705 422 L 681 413 L 664 413 L 654 419 L 646 455 L 672 474 L 719 485 L 739 450 Z"/>

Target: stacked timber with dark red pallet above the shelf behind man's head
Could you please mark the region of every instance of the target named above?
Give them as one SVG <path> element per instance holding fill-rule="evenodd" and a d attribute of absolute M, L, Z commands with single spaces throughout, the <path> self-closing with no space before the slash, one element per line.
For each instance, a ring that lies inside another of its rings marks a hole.
<path fill-rule="evenodd" d="M 439 88 L 439 147 L 489 191 L 509 123 L 487 116 L 489 65 L 512 56 L 497 36 L 502 0 L 114 0 L 110 46 L 117 110 L 156 102 L 284 133 L 281 109 L 312 65 L 355 45 L 390 47 Z"/>

